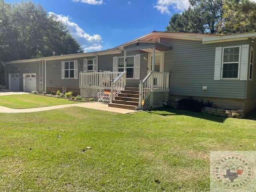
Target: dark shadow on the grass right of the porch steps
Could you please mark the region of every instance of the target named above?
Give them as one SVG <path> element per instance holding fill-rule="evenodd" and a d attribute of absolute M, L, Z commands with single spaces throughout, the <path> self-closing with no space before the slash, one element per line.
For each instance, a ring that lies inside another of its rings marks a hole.
<path fill-rule="evenodd" d="M 219 117 L 219 116 L 209 115 L 209 114 L 200 113 L 200 112 L 178 110 L 173 108 L 159 108 L 155 110 L 147 110 L 147 112 L 150 114 L 157 114 L 161 116 L 184 115 L 184 116 L 190 116 L 190 117 L 205 119 L 209 121 L 214 121 L 218 123 L 223 123 L 226 120 L 226 117 Z"/>

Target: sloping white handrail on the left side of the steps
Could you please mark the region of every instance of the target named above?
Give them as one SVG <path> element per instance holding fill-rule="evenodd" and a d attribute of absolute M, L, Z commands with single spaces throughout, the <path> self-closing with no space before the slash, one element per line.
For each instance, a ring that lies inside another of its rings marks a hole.
<path fill-rule="evenodd" d="M 110 103 L 112 103 L 113 100 L 113 93 L 115 91 L 115 94 L 118 91 L 124 90 L 126 87 L 126 72 L 122 72 L 119 76 L 116 77 L 115 80 L 111 80 L 111 91 L 110 91 Z"/>

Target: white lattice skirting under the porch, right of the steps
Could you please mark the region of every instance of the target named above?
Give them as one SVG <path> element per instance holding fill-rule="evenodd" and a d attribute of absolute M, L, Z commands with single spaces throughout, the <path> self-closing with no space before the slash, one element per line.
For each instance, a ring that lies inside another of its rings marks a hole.
<path fill-rule="evenodd" d="M 159 108 L 163 102 L 168 102 L 169 92 L 151 92 L 145 99 L 143 109 Z"/>

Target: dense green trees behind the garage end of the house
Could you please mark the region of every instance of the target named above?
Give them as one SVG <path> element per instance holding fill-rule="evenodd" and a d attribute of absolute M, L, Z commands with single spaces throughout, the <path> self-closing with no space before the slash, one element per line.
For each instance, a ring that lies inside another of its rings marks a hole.
<path fill-rule="evenodd" d="M 0 0 L 0 60 L 22 60 L 83 52 L 62 22 L 33 2 Z"/>

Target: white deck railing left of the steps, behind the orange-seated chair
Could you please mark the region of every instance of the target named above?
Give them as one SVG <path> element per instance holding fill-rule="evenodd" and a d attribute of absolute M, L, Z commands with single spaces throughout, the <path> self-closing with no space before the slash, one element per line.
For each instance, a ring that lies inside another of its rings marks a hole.
<path fill-rule="evenodd" d="M 111 81 L 115 80 L 123 72 L 81 72 L 80 88 L 111 89 Z"/>

